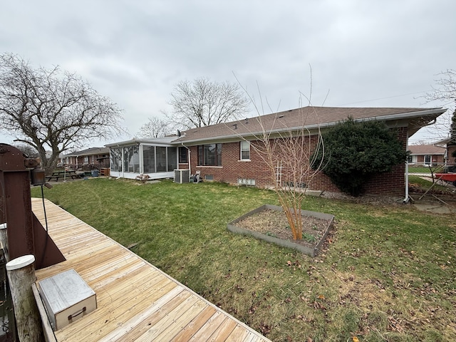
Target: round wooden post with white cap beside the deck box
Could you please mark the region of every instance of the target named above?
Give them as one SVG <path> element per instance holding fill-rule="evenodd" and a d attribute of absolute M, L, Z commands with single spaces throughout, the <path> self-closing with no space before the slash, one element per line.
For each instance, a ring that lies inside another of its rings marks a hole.
<path fill-rule="evenodd" d="M 36 281 L 34 262 L 35 257 L 29 254 L 6 264 L 17 333 L 21 342 L 44 341 L 41 318 L 31 287 Z"/>

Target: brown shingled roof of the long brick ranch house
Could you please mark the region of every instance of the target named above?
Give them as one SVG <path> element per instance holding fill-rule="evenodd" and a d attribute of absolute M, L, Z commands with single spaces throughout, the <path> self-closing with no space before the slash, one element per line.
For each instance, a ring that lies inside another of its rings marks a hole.
<path fill-rule="evenodd" d="M 348 117 L 355 120 L 382 120 L 391 125 L 405 122 L 409 127 L 409 135 L 412 135 L 445 111 L 446 109 L 443 108 L 304 107 L 230 123 L 192 128 L 182 132 L 180 138 L 174 142 L 192 143 L 246 138 L 261 134 L 264 130 L 271 133 L 297 130 L 303 127 L 314 130 L 336 125 Z"/>

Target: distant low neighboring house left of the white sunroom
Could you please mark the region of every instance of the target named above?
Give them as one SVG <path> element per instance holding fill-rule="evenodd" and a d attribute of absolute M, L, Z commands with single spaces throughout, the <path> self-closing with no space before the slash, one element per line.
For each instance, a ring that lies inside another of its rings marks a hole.
<path fill-rule="evenodd" d="M 91 147 L 87 150 L 68 153 L 61 156 L 61 163 L 75 169 L 81 169 L 86 166 L 98 169 L 109 167 L 109 148 Z"/>

